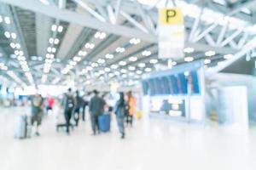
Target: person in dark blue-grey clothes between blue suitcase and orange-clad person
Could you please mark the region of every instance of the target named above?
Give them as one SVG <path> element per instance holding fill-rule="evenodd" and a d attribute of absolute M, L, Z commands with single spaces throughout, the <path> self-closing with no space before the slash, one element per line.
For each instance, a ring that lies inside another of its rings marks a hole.
<path fill-rule="evenodd" d="M 119 100 L 114 106 L 114 114 L 116 115 L 119 133 L 121 133 L 121 139 L 125 139 L 125 107 L 125 95 L 121 92 L 119 93 Z"/>

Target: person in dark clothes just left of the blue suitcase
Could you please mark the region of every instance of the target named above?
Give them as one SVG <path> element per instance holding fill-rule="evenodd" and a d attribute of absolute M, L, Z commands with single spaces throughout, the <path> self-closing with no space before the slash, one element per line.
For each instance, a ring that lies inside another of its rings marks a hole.
<path fill-rule="evenodd" d="M 93 135 L 100 133 L 98 116 L 102 115 L 104 111 L 105 101 L 98 96 L 96 90 L 93 91 L 94 96 L 90 99 L 89 111 L 90 111 L 90 122 L 93 131 Z"/>

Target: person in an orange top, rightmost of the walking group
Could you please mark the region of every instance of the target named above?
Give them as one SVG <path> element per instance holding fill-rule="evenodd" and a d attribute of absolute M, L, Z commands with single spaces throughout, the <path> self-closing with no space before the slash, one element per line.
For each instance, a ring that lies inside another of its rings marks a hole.
<path fill-rule="evenodd" d="M 132 121 L 133 121 L 133 115 L 135 114 L 135 105 L 136 105 L 136 100 L 134 96 L 132 95 L 131 91 L 127 93 L 127 104 L 128 104 L 128 114 L 126 117 L 126 123 L 129 125 L 131 124 L 132 127 Z"/>

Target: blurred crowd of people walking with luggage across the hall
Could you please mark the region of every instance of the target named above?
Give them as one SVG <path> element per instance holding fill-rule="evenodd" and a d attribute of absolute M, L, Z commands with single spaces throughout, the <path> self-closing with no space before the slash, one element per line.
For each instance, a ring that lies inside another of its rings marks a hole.
<path fill-rule="evenodd" d="M 55 99 L 52 96 L 43 99 L 38 93 L 32 95 L 30 98 L 31 119 L 32 126 L 36 127 L 36 135 L 39 135 L 38 127 L 42 123 L 44 111 L 47 113 L 57 111 L 58 114 L 64 116 L 65 122 L 57 123 L 56 127 L 65 127 L 66 133 L 70 134 L 70 128 L 78 127 L 80 119 L 83 122 L 85 121 L 87 109 L 90 113 L 92 135 L 101 133 L 99 116 L 114 113 L 119 127 L 120 138 L 125 139 L 125 123 L 127 126 L 132 126 L 133 116 L 136 111 L 136 99 L 131 91 L 126 95 L 120 92 L 119 99 L 113 104 L 106 99 L 107 95 L 100 95 L 98 91 L 94 90 L 82 96 L 79 91 L 73 92 L 71 88 L 68 88 L 67 93 L 63 94 L 62 99 Z M 55 107 L 60 107 L 61 109 L 55 110 Z M 108 126 L 110 126 L 110 123 Z"/>

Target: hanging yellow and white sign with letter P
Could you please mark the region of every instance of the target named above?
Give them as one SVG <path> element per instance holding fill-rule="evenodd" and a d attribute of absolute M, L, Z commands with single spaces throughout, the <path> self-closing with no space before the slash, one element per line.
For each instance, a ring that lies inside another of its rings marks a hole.
<path fill-rule="evenodd" d="M 182 59 L 184 21 L 181 8 L 159 9 L 159 58 Z"/>

